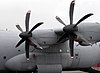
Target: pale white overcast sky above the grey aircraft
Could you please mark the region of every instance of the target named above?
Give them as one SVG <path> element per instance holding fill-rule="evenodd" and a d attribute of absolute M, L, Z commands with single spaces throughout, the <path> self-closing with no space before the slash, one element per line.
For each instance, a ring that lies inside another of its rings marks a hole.
<path fill-rule="evenodd" d="M 55 16 L 69 24 L 69 6 L 72 0 L 0 0 L 0 29 L 17 30 L 19 24 L 25 30 L 25 14 L 31 10 L 30 28 L 43 21 L 39 29 L 62 28 Z M 93 16 L 84 22 L 100 22 L 100 0 L 76 0 L 74 23 L 87 13 Z"/>

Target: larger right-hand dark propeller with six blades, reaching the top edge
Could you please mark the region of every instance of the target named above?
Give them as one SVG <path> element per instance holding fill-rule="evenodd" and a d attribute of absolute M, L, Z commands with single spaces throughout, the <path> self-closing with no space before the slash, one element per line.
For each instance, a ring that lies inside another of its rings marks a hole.
<path fill-rule="evenodd" d="M 61 40 L 63 40 L 64 38 L 68 37 L 69 38 L 69 48 L 70 48 L 70 54 L 71 54 L 71 58 L 74 58 L 74 41 L 76 39 L 77 36 L 79 36 L 78 34 L 76 34 L 76 32 L 78 31 L 78 25 L 84 21 L 85 19 L 87 19 L 88 17 L 92 16 L 92 13 L 86 14 L 85 16 L 83 16 L 76 24 L 73 24 L 73 13 L 74 13 L 74 5 L 75 5 L 75 0 L 73 0 L 70 4 L 70 10 L 69 10 L 69 19 L 70 19 L 70 25 L 66 25 L 61 19 L 60 17 L 56 16 L 56 19 L 63 24 L 65 27 L 63 27 L 63 31 L 65 32 L 61 38 L 57 41 L 57 43 L 59 43 Z M 82 37 L 81 37 L 82 38 Z M 84 39 L 83 39 L 84 40 Z M 85 39 L 84 41 L 87 42 L 87 40 Z"/>

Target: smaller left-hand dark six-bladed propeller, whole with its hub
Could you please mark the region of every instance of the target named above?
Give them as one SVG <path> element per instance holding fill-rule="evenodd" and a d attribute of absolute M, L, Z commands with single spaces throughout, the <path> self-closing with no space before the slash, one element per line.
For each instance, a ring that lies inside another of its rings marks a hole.
<path fill-rule="evenodd" d="M 40 45 L 32 39 L 32 31 L 34 31 L 37 27 L 39 27 L 43 22 L 37 23 L 30 31 L 29 31 L 29 19 L 30 19 L 30 13 L 31 11 L 29 10 L 26 13 L 26 18 L 25 18 L 25 27 L 26 31 L 23 31 L 23 29 L 20 27 L 20 25 L 16 25 L 18 30 L 21 31 L 19 34 L 19 37 L 21 40 L 17 43 L 16 48 L 19 47 L 23 42 L 25 42 L 25 52 L 26 52 L 26 59 L 29 60 L 29 46 L 32 44 L 35 48 L 38 49 L 43 49 L 40 47 Z"/>

